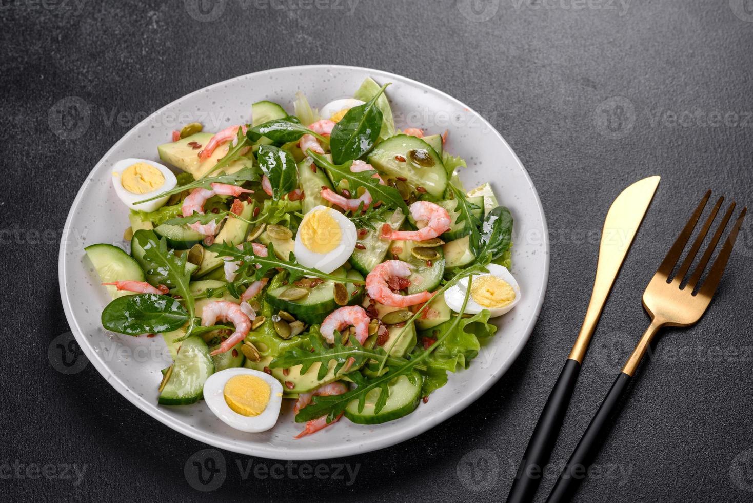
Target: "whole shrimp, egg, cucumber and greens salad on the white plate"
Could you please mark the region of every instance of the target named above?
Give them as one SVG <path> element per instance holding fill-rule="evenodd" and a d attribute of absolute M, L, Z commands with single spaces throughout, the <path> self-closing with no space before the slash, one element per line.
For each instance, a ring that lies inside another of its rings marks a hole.
<path fill-rule="evenodd" d="M 255 432 L 291 399 L 297 437 L 392 421 L 519 302 L 511 213 L 488 183 L 466 191 L 447 133 L 395 129 L 388 86 L 319 110 L 298 93 L 294 114 L 257 102 L 250 123 L 190 123 L 161 162 L 112 166 L 130 250 L 86 254 L 112 297 L 102 326 L 169 349 L 159 404 L 203 398 Z"/>

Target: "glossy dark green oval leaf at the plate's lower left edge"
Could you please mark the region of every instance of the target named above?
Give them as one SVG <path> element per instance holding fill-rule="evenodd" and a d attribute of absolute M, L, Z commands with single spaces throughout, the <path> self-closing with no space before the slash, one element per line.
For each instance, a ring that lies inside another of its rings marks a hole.
<path fill-rule="evenodd" d="M 102 310 L 102 326 L 127 335 L 177 330 L 188 319 L 188 312 L 178 300 L 159 294 L 118 297 Z"/>

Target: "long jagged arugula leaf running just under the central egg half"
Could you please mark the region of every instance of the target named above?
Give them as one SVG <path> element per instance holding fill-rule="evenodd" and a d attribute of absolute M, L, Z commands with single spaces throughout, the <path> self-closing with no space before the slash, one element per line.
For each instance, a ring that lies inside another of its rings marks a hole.
<path fill-rule="evenodd" d="M 303 276 L 315 276 L 322 279 L 332 279 L 341 283 L 353 283 L 354 285 L 364 285 L 364 281 L 352 278 L 343 278 L 342 276 L 334 276 L 332 274 L 322 273 L 320 270 L 311 269 L 309 267 L 302 266 L 295 260 L 293 252 L 290 254 L 288 261 L 282 261 L 275 255 L 275 249 L 272 243 L 267 245 L 267 257 L 261 257 L 254 253 L 252 243 L 243 242 L 241 248 L 227 245 L 226 243 L 215 243 L 209 246 L 209 251 L 215 252 L 219 257 L 224 258 L 225 261 L 242 261 L 243 265 L 239 268 L 240 271 L 248 271 L 249 279 L 259 279 L 270 269 L 280 268 L 287 270 L 290 278 L 290 282 L 294 282 Z M 229 257 L 229 258 L 228 258 Z M 256 269 L 254 266 L 260 266 Z"/>

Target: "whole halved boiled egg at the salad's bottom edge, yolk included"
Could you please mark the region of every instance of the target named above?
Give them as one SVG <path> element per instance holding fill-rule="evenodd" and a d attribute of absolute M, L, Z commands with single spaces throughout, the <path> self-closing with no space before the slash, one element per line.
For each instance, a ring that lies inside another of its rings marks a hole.
<path fill-rule="evenodd" d="M 204 401 L 225 424 L 240 431 L 267 431 L 277 422 L 282 385 L 250 368 L 227 368 L 204 383 Z"/>

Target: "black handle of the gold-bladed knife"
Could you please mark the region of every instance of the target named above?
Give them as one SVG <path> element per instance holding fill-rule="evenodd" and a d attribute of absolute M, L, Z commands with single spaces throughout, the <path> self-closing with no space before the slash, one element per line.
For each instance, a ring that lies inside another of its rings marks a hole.
<path fill-rule="evenodd" d="M 570 358 L 565 362 L 565 367 L 562 367 L 562 372 L 559 373 L 547 404 L 544 405 L 544 410 L 538 418 L 531 440 L 526 447 L 526 453 L 520 460 L 513 486 L 508 494 L 508 503 L 532 501 L 538 483 L 541 482 L 544 465 L 549 462 L 580 371 L 581 364 Z"/>

